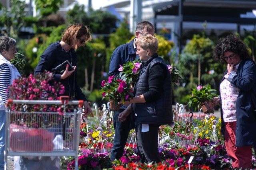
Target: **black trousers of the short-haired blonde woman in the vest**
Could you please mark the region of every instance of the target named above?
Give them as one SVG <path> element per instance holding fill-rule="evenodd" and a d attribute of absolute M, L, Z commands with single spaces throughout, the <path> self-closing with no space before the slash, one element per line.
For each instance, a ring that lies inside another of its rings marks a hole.
<path fill-rule="evenodd" d="M 160 125 L 148 125 L 148 131 L 142 132 L 142 124 L 136 125 L 137 155 L 141 162 L 161 162 L 158 151 L 158 130 Z"/>

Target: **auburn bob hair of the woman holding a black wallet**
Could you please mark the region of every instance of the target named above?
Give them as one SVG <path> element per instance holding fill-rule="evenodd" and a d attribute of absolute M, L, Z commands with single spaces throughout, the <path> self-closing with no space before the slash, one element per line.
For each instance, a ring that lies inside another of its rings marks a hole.
<path fill-rule="evenodd" d="M 83 35 L 86 35 L 83 45 L 85 45 L 88 41 L 92 41 L 92 36 L 90 35 L 88 27 L 84 26 L 81 23 L 75 23 L 66 29 L 61 41 L 67 43 L 68 45 L 72 45 L 73 37 L 79 38 Z"/>

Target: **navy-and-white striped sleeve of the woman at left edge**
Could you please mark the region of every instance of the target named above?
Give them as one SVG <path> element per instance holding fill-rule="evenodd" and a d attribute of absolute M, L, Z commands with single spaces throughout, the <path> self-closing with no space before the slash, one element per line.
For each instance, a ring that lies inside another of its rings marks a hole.
<path fill-rule="evenodd" d="M 6 104 L 9 98 L 8 86 L 10 86 L 11 81 L 11 70 L 10 67 L 4 63 L 0 65 L 0 96 L 4 104 Z"/>

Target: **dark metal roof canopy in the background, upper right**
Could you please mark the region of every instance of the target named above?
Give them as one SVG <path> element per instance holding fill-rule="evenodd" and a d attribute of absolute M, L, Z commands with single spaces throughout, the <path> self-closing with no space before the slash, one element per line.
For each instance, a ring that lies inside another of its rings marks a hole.
<path fill-rule="evenodd" d="M 172 0 L 154 6 L 153 10 L 155 26 L 156 23 L 163 21 L 179 22 L 180 37 L 182 37 L 184 21 L 236 23 L 238 33 L 240 33 L 240 25 L 256 24 L 256 17 L 241 18 L 240 16 L 256 10 L 256 0 Z M 170 17 L 158 17 L 163 15 Z"/>

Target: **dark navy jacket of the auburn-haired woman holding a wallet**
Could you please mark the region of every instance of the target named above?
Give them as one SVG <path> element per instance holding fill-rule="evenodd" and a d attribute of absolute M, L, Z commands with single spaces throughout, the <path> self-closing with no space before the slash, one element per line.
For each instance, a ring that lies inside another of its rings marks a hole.
<path fill-rule="evenodd" d="M 36 66 L 35 74 L 40 74 L 44 72 L 44 70 L 51 71 L 52 68 L 58 66 L 66 60 L 68 60 L 73 66 L 76 66 L 76 70 L 78 69 L 76 65 L 77 55 L 75 50 L 71 48 L 70 51 L 65 51 L 62 49 L 59 41 L 49 45 L 40 57 L 41 59 Z M 61 80 L 60 76 L 60 73 L 53 74 L 53 80 L 56 82 L 61 82 L 61 84 L 63 84 L 65 87 L 65 92 L 62 94 L 62 96 L 72 97 L 75 92 L 75 97 L 77 100 L 87 101 L 76 81 L 76 71 L 64 80 Z"/>

